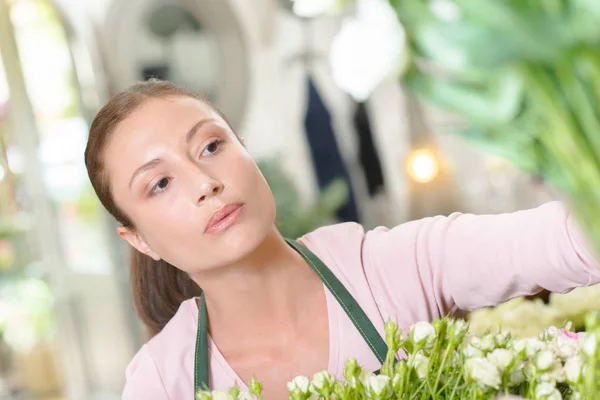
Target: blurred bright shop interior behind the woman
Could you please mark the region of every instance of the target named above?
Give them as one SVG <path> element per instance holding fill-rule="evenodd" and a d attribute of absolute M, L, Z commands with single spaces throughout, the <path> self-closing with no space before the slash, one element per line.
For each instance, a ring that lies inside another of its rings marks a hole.
<path fill-rule="evenodd" d="M 0 0 L 0 399 L 118 399 L 146 340 L 128 249 L 83 163 L 94 114 L 133 82 L 168 79 L 212 100 L 260 163 L 290 237 L 552 199 L 441 134 L 458 122 L 398 79 L 342 90 L 332 63 L 386 49 L 332 53 L 348 17 L 289 0 Z"/>

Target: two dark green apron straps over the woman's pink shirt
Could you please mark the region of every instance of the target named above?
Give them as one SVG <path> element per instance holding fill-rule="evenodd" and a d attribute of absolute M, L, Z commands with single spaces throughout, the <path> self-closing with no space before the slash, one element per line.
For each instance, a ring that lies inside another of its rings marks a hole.
<path fill-rule="evenodd" d="M 286 239 L 288 244 L 294 248 L 308 265 L 317 273 L 327 289 L 333 294 L 346 314 L 350 317 L 354 326 L 365 339 L 373 354 L 383 364 L 388 351 L 387 344 L 379 335 L 365 312 L 360 308 L 354 297 L 346 290 L 344 285 L 335 277 L 327 266 L 319 260 L 309 249 L 302 244 Z M 198 333 L 196 335 L 196 355 L 194 361 L 194 396 L 199 390 L 207 390 L 208 386 L 208 332 L 206 299 L 200 296 L 200 307 L 198 307 Z M 375 372 L 378 373 L 379 371 Z M 194 397 L 195 398 L 195 397 Z"/>

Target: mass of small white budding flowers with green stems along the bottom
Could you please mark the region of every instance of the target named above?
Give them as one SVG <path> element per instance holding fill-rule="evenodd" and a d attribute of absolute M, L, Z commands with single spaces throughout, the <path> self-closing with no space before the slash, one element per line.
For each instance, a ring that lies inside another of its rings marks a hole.
<path fill-rule="evenodd" d="M 585 318 L 586 333 L 569 324 L 550 327 L 537 337 L 510 333 L 476 336 L 464 320 L 449 317 L 417 322 L 404 335 L 392 321 L 385 325 L 389 348 L 380 373 L 346 361 L 344 379 L 327 371 L 288 383 L 290 399 L 450 400 L 517 396 L 533 400 L 591 399 L 600 390 L 600 313 Z M 197 400 L 261 399 L 253 379 L 250 392 L 201 391 Z M 510 397 L 506 397 L 510 398 Z"/>

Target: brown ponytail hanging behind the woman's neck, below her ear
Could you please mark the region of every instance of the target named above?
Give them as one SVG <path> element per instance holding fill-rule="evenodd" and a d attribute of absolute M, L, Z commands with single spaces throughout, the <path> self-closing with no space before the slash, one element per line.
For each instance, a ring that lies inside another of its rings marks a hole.
<path fill-rule="evenodd" d="M 133 304 L 151 337 L 167 325 L 182 302 L 202 293 L 185 272 L 135 249 L 131 253 L 129 282 Z"/>

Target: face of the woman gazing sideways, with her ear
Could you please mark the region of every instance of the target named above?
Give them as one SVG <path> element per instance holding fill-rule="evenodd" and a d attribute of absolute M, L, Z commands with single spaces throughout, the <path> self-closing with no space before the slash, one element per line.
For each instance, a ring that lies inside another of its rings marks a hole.
<path fill-rule="evenodd" d="M 121 122 L 104 154 L 132 246 L 194 275 L 250 254 L 273 229 L 275 203 L 227 123 L 192 98 L 150 99 Z"/>

